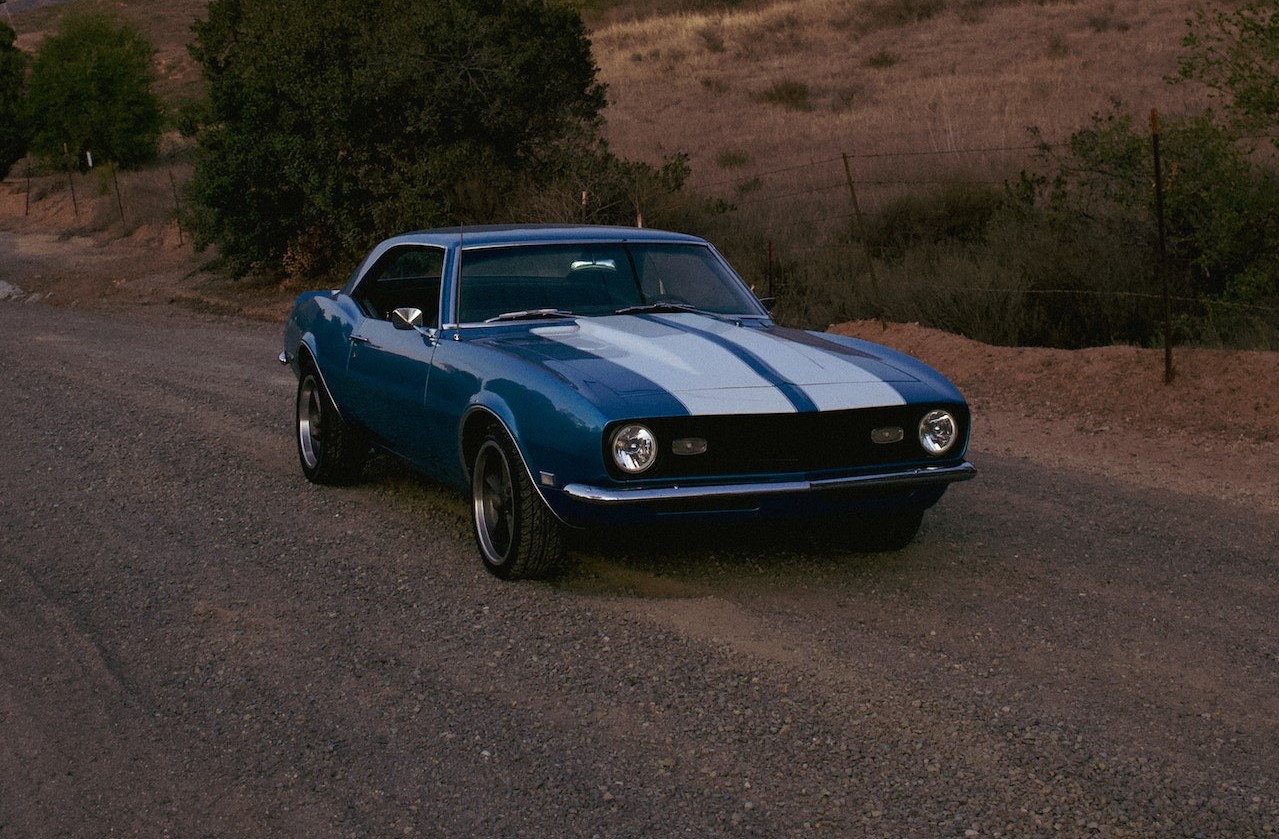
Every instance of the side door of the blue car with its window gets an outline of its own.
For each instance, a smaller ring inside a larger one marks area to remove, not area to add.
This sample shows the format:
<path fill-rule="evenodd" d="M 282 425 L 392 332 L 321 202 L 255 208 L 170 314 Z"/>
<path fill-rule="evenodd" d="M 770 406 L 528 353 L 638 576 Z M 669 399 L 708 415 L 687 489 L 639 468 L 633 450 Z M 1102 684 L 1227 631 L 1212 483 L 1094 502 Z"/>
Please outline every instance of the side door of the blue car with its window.
<path fill-rule="evenodd" d="M 432 446 L 423 437 L 426 388 L 439 331 L 444 251 L 402 246 L 382 255 L 352 297 L 365 313 L 350 335 L 347 379 L 350 411 L 395 454 L 432 469 Z M 403 329 L 391 312 L 416 308 L 418 327 Z"/>

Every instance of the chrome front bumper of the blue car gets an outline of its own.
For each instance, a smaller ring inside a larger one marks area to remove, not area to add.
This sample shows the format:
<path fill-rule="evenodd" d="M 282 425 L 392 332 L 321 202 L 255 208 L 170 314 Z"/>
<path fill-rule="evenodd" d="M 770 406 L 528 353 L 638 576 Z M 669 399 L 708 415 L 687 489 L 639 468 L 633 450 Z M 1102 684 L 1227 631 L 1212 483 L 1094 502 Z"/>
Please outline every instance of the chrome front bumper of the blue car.
<path fill-rule="evenodd" d="M 843 478 L 822 478 L 816 481 L 775 481 L 773 483 L 724 483 L 714 486 L 665 486 L 657 489 L 613 489 L 569 483 L 564 494 L 587 504 L 642 504 L 651 501 L 673 501 L 687 499 L 733 498 L 741 495 L 797 495 L 803 492 L 826 492 L 830 490 L 849 490 L 858 487 L 900 489 L 912 486 L 936 486 L 954 483 L 977 477 L 977 468 L 968 463 L 959 466 L 930 466 L 908 472 L 886 472 L 876 474 L 854 474 Z"/>

